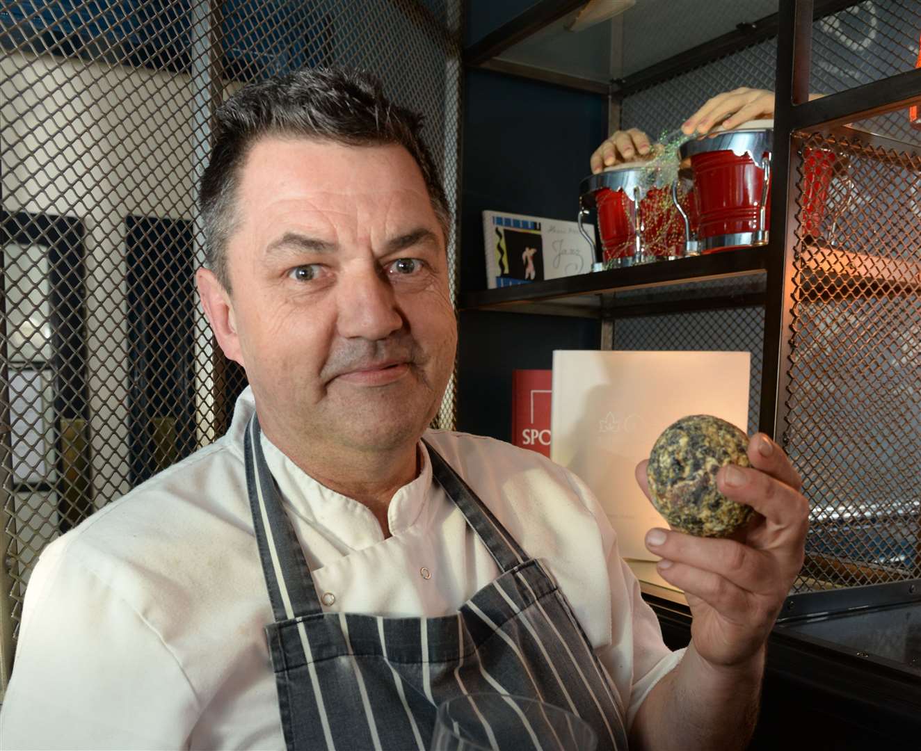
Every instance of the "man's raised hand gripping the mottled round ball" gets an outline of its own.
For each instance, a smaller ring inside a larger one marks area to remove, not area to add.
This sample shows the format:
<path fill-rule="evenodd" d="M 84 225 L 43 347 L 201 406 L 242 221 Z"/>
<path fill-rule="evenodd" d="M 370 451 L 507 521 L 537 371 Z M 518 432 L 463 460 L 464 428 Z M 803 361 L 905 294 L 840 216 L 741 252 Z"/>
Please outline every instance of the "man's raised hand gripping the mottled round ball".
<path fill-rule="evenodd" d="M 662 557 L 659 574 L 681 587 L 691 607 L 695 651 L 714 667 L 733 668 L 764 646 L 803 562 L 809 503 L 787 456 L 763 433 L 748 447 L 751 468 L 721 468 L 717 487 L 756 514 L 733 539 L 652 529 L 647 548 Z M 649 494 L 647 462 L 636 479 Z"/>

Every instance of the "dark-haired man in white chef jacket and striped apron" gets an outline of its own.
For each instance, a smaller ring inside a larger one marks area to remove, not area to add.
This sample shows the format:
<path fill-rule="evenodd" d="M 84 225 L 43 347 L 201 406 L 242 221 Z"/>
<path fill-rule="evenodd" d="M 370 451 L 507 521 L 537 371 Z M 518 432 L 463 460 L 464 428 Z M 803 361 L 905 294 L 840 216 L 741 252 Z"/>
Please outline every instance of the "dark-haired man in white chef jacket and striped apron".
<path fill-rule="evenodd" d="M 744 745 L 806 528 L 777 446 L 720 476 L 763 514 L 744 544 L 650 532 L 694 610 L 670 653 L 577 478 L 426 430 L 456 323 L 417 117 L 344 71 L 246 87 L 202 205 L 199 292 L 251 387 L 216 444 L 42 555 L 2 745 L 426 749 L 437 705 L 482 690 L 600 748 Z"/>

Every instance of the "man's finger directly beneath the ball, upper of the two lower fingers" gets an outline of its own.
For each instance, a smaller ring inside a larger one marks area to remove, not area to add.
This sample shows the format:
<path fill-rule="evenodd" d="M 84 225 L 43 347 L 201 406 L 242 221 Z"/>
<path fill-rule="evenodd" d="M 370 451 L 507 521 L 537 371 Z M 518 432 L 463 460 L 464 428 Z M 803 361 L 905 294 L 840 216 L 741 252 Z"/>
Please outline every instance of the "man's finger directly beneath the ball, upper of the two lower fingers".
<path fill-rule="evenodd" d="M 772 560 L 732 539 L 693 537 L 655 528 L 647 533 L 646 547 L 665 560 L 715 573 L 748 592 L 769 594 L 775 588 Z"/>

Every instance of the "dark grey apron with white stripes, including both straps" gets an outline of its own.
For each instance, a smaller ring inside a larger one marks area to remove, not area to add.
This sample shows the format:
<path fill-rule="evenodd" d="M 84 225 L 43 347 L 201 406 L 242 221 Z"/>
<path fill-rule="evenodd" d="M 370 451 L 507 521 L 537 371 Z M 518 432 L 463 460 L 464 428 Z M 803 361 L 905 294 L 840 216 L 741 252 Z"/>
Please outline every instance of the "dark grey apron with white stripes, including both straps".
<path fill-rule="evenodd" d="M 626 748 L 610 679 L 553 577 L 426 447 L 435 479 L 502 573 L 449 616 L 324 613 L 255 415 L 247 427 L 246 479 L 275 618 L 265 632 L 287 748 L 426 751 L 438 705 L 483 691 L 550 702 L 589 722 L 599 749 Z M 498 737 L 495 747 L 507 741 Z"/>

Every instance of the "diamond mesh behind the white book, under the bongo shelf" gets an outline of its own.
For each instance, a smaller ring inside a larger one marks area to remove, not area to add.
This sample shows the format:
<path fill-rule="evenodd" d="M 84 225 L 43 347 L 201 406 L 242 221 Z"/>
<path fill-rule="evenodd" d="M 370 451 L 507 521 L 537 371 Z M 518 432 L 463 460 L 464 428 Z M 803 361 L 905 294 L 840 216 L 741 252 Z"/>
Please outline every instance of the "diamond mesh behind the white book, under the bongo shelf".
<path fill-rule="evenodd" d="M 758 430 L 764 360 L 764 307 L 733 307 L 663 316 L 617 318 L 615 350 L 751 352 L 749 433 Z"/>

